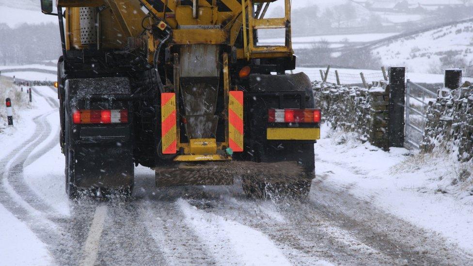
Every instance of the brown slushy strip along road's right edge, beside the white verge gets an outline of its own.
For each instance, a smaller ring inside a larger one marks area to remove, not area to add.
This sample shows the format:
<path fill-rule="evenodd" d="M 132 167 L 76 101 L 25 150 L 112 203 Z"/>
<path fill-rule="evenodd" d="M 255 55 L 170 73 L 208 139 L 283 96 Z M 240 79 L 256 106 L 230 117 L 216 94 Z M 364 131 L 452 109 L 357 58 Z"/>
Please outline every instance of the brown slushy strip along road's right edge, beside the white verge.
<path fill-rule="evenodd" d="M 409 264 L 471 264 L 471 254 L 446 245 L 440 235 L 419 228 L 378 209 L 371 203 L 337 189 L 325 178 L 312 185 L 310 203 L 304 205 L 308 216 L 330 221 L 365 245 L 394 259 Z"/>

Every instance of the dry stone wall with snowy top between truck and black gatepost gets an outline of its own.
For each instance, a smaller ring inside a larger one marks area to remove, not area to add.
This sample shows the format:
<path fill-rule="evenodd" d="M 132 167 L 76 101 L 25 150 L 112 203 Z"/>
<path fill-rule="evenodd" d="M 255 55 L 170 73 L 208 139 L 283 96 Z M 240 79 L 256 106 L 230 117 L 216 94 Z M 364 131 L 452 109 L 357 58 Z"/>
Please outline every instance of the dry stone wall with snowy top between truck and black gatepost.
<path fill-rule="evenodd" d="M 360 140 L 388 150 L 389 87 L 374 83 L 370 89 L 313 83 L 315 103 L 332 128 L 358 132 Z"/>

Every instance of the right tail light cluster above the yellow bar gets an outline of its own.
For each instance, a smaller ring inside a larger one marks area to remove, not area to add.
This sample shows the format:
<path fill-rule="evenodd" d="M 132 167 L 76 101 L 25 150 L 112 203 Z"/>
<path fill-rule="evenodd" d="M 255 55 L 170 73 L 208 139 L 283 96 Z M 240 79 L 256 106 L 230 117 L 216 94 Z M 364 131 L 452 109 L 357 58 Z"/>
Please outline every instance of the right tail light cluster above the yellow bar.
<path fill-rule="evenodd" d="M 269 109 L 269 123 L 320 123 L 319 109 Z"/>

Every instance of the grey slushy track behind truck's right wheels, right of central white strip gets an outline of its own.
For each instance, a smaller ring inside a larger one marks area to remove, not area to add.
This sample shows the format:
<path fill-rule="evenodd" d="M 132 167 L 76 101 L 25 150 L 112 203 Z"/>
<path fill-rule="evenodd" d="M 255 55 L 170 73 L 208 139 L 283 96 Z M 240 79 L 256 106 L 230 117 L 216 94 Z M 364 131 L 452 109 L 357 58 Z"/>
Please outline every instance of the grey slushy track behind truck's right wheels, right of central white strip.
<path fill-rule="evenodd" d="M 224 201 L 221 201 L 223 199 Z M 379 264 L 392 261 L 364 245 L 347 231 L 306 216 L 299 201 L 253 201 L 228 195 L 190 201 L 202 211 L 235 220 L 267 235 L 294 265 Z M 293 209 L 288 212 L 287 209 Z M 307 226 L 304 226 L 307 224 Z M 368 258 L 367 258 L 368 257 Z"/>

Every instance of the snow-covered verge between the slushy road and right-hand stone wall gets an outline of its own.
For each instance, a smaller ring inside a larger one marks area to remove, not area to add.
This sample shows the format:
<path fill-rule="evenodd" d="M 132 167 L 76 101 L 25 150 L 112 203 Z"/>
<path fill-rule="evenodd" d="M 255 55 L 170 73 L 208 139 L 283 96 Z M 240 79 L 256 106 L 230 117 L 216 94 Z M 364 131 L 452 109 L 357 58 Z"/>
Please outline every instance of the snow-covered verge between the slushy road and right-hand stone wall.
<path fill-rule="evenodd" d="M 330 128 L 322 125 L 315 144 L 317 178 L 473 251 L 473 195 L 452 185 L 471 164 L 441 153 L 384 152 Z"/>

